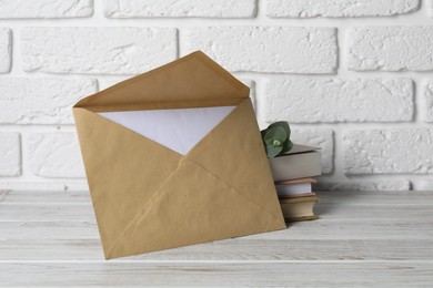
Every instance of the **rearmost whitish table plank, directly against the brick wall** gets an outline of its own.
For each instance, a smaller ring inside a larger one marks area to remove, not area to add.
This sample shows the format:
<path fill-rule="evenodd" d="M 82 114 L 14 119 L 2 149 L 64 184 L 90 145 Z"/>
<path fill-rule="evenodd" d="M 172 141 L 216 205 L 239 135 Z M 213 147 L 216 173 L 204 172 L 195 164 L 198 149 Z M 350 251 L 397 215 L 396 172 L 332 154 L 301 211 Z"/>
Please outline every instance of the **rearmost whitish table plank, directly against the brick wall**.
<path fill-rule="evenodd" d="M 346 204 L 433 204 L 433 192 L 351 192 L 326 191 L 318 192 L 322 203 Z M 89 204 L 88 191 L 0 191 L 1 204 Z"/>

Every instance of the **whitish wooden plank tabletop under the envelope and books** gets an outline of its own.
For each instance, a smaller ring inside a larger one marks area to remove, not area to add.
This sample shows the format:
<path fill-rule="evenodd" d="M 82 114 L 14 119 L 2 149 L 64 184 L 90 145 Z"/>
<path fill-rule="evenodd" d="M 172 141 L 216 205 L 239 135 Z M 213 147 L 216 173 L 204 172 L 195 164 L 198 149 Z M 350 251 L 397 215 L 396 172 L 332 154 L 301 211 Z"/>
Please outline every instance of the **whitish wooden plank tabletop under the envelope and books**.
<path fill-rule="evenodd" d="M 322 192 L 286 230 L 104 260 L 88 192 L 0 192 L 1 287 L 433 287 L 433 192 Z"/>

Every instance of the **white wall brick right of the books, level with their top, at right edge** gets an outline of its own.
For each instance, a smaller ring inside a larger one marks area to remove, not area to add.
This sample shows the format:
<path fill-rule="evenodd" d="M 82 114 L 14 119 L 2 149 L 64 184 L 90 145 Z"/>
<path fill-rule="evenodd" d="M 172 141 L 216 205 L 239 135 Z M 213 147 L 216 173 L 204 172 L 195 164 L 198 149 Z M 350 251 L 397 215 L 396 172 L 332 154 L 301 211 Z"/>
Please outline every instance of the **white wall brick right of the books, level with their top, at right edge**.
<path fill-rule="evenodd" d="M 433 173 L 433 130 L 354 130 L 344 133 L 348 174 Z"/>

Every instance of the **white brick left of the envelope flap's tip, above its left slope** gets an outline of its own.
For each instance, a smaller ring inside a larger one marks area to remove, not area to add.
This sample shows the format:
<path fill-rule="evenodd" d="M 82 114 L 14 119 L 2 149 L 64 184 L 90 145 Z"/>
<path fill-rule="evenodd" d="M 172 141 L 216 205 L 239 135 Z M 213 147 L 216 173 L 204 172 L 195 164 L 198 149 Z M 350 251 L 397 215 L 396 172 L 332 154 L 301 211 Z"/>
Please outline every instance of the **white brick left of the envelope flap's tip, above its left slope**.
<path fill-rule="evenodd" d="M 27 72 L 142 73 L 175 59 L 177 30 L 29 27 L 21 30 L 21 53 Z"/>

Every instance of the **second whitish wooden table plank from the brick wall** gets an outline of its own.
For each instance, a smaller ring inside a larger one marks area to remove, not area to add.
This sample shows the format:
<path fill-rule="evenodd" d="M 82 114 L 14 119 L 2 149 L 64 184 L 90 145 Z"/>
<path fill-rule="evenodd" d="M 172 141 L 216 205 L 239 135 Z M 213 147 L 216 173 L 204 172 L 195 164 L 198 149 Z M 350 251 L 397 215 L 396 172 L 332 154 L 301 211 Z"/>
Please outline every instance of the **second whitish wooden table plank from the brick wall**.
<path fill-rule="evenodd" d="M 353 205 L 346 203 L 316 205 L 323 219 L 339 220 L 420 220 L 432 216 L 433 205 Z M 0 204 L 0 222 L 17 220 L 91 220 L 92 205 L 72 204 Z"/>

